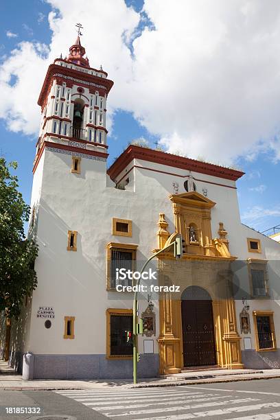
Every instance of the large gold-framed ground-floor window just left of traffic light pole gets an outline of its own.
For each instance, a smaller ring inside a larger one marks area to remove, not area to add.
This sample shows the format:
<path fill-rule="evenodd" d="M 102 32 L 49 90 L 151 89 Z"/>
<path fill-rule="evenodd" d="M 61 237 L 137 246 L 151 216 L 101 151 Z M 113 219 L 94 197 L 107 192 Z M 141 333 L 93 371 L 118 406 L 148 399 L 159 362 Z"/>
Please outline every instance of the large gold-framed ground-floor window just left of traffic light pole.
<path fill-rule="evenodd" d="M 132 331 L 132 310 L 106 310 L 106 358 L 131 359 L 133 344 L 127 342 L 126 331 Z"/>

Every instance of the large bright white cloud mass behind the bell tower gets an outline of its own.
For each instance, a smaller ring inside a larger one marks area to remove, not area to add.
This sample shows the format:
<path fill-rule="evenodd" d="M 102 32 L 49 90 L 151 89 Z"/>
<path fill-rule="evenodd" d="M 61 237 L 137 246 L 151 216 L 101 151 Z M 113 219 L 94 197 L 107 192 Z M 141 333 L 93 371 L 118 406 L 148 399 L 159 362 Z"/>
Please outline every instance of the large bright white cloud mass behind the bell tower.
<path fill-rule="evenodd" d="M 38 46 L 22 44 L 3 63 L 7 80 L 10 60 L 13 71 L 21 65 L 34 75 L 30 83 L 28 71 L 18 71 L 9 106 L 20 121 L 11 124 L 8 117 L 10 129 L 38 130 L 34 97 L 47 64 L 67 53 L 80 21 L 91 65 L 102 64 L 115 81 L 108 115 L 119 108 L 132 112 L 170 152 L 221 164 L 266 150 L 280 159 L 279 1 L 268 8 L 261 0 L 145 0 L 143 12 L 155 30 L 145 27 L 137 38 L 141 16 L 122 0 L 103 0 L 102 7 L 97 0 L 48 2 L 59 12 L 49 14 L 48 60 L 38 57 Z M 18 104 L 27 86 L 32 121 Z"/>

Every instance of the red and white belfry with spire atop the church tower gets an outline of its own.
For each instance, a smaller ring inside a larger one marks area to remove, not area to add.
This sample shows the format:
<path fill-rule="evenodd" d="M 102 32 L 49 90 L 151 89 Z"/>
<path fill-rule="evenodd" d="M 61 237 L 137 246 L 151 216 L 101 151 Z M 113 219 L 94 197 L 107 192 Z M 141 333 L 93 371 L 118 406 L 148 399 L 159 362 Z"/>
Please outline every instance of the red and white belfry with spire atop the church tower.
<path fill-rule="evenodd" d="M 49 65 L 38 104 L 41 107 L 40 134 L 36 144 L 35 172 L 40 156 L 50 143 L 56 148 L 89 150 L 107 156 L 106 101 L 113 86 L 106 71 L 90 67 L 78 36 L 68 57 Z"/>

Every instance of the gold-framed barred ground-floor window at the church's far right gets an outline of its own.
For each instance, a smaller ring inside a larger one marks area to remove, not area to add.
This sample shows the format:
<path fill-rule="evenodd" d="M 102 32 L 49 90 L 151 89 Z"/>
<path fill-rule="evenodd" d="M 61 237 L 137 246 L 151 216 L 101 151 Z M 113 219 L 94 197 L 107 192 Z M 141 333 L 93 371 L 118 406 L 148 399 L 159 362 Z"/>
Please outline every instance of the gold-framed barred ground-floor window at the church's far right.
<path fill-rule="evenodd" d="M 275 326 L 272 311 L 253 311 L 257 351 L 276 351 Z"/>

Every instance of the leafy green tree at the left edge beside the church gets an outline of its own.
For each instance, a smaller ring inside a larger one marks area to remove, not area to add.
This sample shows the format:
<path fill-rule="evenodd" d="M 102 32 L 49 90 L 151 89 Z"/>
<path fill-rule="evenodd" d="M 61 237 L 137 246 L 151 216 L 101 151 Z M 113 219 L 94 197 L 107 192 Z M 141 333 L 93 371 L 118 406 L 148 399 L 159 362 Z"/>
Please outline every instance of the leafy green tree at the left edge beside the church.
<path fill-rule="evenodd" d="M 9 167 L 16 170 L 17 163 L 7 165 L 0 158 L 0 311 L 17 319 L 23 299 L 31 296 L 37 285 L 34 262 L 38 246 L 25 237 L 24 222 L 29 220 L 30 207 Z"/>

